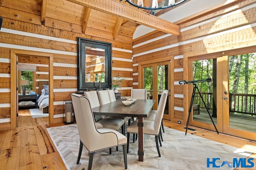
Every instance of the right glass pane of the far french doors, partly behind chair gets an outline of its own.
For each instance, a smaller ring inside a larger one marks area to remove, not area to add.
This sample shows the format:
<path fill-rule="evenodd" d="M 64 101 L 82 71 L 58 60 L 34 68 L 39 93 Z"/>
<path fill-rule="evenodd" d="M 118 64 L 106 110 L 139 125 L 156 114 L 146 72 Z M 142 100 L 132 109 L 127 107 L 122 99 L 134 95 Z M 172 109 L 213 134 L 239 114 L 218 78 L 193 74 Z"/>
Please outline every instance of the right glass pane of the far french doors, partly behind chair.
<path fill-rule="evenodd" d="M 157 78 L 157 87 L 158 87 L 158 103 L 159 103 L 159 100 L 160 100 L 160 97 L 161 97 L 161 94 L 163 92 L 163 90 L 168 90 L 168 65 L 160 65 L 158 66 L 157 68 L 158 70 L 158 78 Z M 167 98 L 167 101 L 166 101 L 166 106 L 165 106 L 165 109 L 164 109 L 164 114 L 169 114 L 168 112 L 168 98 Z"/>

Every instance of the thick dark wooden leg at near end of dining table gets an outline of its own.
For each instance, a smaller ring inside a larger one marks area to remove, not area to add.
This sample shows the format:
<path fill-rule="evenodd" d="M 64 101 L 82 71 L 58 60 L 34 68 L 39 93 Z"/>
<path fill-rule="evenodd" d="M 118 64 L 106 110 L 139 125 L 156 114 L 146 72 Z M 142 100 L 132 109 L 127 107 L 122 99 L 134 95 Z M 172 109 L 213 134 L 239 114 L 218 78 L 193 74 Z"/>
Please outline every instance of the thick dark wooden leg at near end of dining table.
<path fill-rule="evenodd" d="M 138 155 L 139 155 L 139 161 L 144 160 L 144 135 L 143 135 L 143 117 L 138 117 Z"/>

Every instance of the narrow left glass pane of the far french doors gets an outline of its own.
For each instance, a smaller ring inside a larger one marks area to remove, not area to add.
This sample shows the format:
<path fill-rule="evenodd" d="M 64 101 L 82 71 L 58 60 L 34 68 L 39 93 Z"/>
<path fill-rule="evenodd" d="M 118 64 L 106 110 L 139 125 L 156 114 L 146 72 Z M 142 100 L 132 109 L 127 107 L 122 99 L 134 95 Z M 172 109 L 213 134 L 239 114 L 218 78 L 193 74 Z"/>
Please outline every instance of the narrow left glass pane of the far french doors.
<path fill-rule="evenodd" d="M 145 67 L 144 71 L 144 88 L 148 91 L 148 99 L 153 98 L 153 68 Z"/>

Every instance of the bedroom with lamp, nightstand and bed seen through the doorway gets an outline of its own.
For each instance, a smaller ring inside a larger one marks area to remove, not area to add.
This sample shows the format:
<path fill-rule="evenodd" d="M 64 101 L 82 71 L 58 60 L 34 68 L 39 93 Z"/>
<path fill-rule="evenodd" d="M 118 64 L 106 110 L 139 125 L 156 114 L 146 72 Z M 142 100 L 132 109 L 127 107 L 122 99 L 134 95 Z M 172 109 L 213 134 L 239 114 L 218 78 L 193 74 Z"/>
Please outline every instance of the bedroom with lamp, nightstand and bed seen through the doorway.
<path fill-rule="evenodd" d="M 28 81 L 28 84 L 24 84 L 24 81 Z M 48 117 L 49 59 L 18 55 L 18 82 L 19 112 L 21 109 L 29 109 L 33 118 Z"/>

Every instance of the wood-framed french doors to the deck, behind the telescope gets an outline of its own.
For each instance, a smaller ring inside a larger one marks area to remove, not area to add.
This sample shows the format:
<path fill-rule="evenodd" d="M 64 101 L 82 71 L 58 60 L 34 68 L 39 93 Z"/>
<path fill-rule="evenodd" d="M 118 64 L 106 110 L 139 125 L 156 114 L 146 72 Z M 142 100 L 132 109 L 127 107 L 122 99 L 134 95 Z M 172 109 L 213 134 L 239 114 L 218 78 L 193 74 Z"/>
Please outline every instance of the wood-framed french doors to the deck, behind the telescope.
<path fill-rule="evenodd" d="M 190 80 L 202 80 L 195 83 L 200 92 L 193 97 L 189 124 L 212 131 L 215 124 L 220 133 L 256 140 L 255 61 L 252 52 L 189 58 Z M 204 81 L 206 78 L 212 81 Z M 188 86 L 191 102 L 194 85 Z"/>

